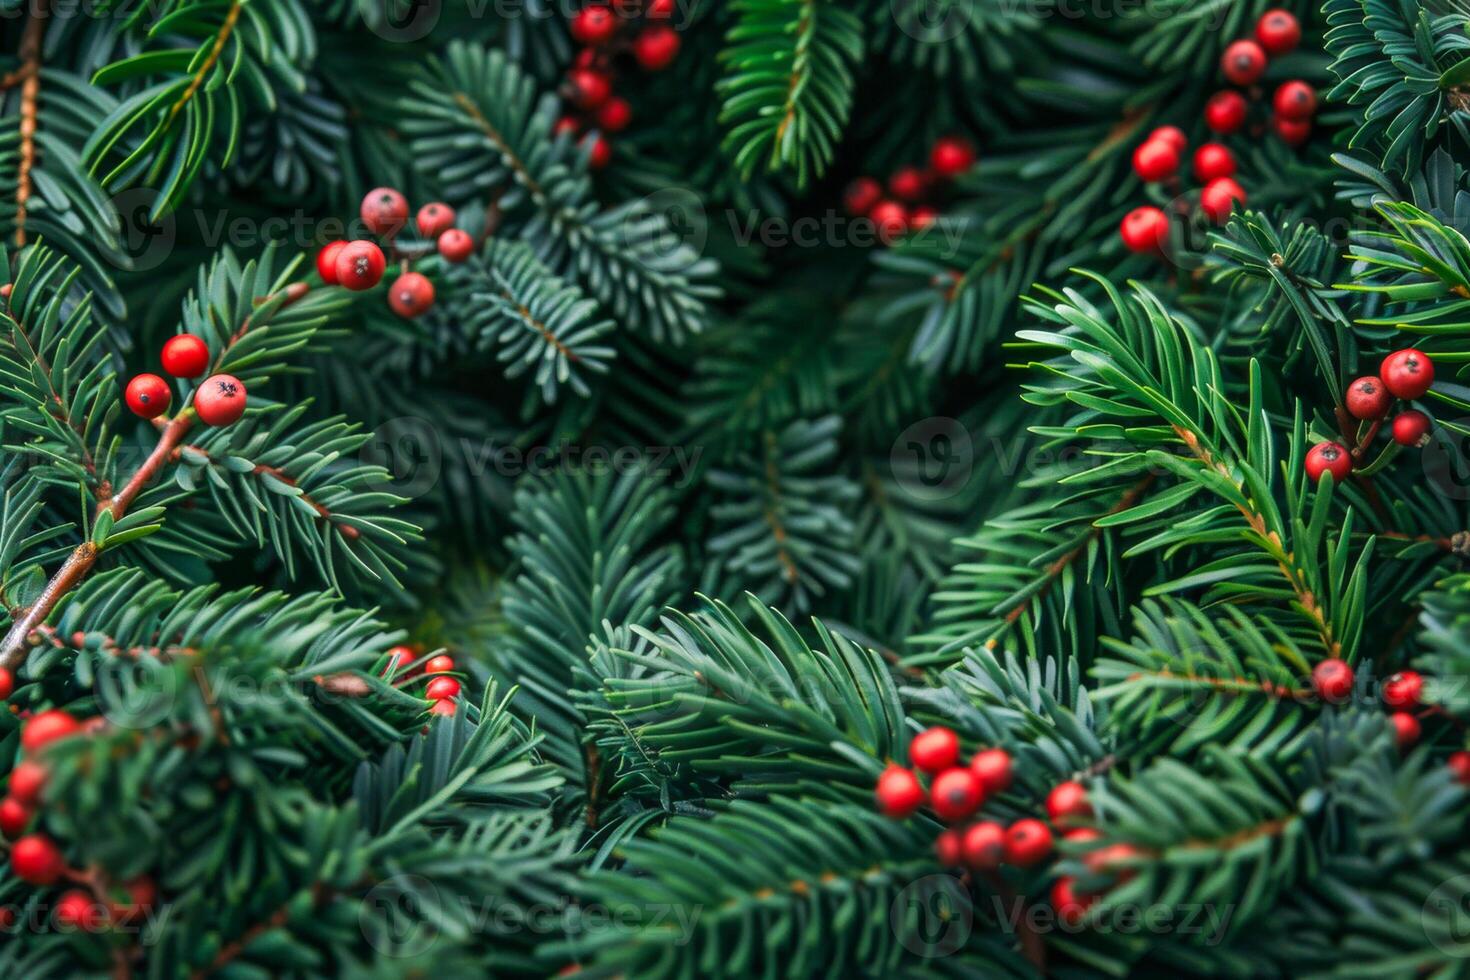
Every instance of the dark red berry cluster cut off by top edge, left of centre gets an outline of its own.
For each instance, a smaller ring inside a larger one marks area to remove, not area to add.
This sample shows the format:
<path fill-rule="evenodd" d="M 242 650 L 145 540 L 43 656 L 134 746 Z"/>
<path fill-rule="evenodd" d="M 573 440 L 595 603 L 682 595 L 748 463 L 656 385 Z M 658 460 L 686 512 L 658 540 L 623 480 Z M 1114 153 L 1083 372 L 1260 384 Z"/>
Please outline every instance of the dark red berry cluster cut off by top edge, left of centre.
<path fill-rule="evenodd" d="M 673 0 L 648 0 L 641 16 L 629 18 L 628 3 L 613 10 L 607 3 L 591 3 L 572 18 L 572 37 L 582 50 L 567 72 L 563 96 L 572 113 L 556 123 L 557 134 L 576 137 L 592 131 L 587 147 L 594 170 L 613 159 L 607 134 L 622 132 L 634 119 L 626 98 L 613 94 L 613 66 L 617 54 L 629 54 L 645 72 L 662 72 L 679 56 L 679 32 L 667 24 Z"/>

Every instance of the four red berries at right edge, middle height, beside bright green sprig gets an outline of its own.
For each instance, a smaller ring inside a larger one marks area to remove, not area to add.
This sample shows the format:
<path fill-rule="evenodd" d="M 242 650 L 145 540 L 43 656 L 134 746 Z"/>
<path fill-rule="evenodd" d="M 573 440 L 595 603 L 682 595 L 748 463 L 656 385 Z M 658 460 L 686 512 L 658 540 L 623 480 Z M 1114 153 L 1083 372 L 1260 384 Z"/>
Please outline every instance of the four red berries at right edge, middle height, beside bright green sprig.
<path fill-rule="evenodd" d="M 1435 383 L 1435 361 L 1429 354 L 1414 348 L 1394 351 L 1383 359 L 1377 375 L 1358 378 L 1348 385 L 1344 408 L 1358 422 L 1370 422 L 1355 450 L 1341 442 L 1319 442 L 1307 453 L 1307 476 L 1316 483 L 1323 475 L 1332 473 L 1335 483 L 1341 483 L 1352 473 L 1354 461 L 1363 455 L 1373 436 L 1377 435 L 1383 419 L 1394 407 L 1395 398 L 1414 401 L 1423 398 L 1430 385 Z M 1391 432 L 1398 445 L 1421 447 L 1429 442 L 1430 419 L 1417 408 L 1410 408 L 1394 416 Z"/>

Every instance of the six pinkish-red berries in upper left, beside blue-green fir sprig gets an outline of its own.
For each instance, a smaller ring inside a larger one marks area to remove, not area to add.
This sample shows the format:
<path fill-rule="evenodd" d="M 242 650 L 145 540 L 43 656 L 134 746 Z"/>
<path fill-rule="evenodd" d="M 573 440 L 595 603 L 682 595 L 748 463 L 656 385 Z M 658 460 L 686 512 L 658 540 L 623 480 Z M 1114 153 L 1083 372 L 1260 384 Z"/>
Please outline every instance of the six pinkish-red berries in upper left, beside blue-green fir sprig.
<path fill-rule="evenodd" d="M 391 187 L 368 191 L 359 213 L 368 231 L 382 238 L 401 264 L 398 278 L 388 287 L 388 307 L 404 319 L 428 313 L 434 306 L 434 284 L 422 272 L 410 272 L 413 259 L 438 250 L 445 262 L 460 263 L 475 251 L 469 232 L 454 228 L 454 209 L 441 201 L 425 204 L 413 219 L 422 242 L 400 242 L 398 232 L 409 223 L 409 200 Z M 322 282 L 354 292 L 372 289 L 387 269 L 382 248 L 363 238 L 328 242 L 316 253 L 316 273 Z"/>

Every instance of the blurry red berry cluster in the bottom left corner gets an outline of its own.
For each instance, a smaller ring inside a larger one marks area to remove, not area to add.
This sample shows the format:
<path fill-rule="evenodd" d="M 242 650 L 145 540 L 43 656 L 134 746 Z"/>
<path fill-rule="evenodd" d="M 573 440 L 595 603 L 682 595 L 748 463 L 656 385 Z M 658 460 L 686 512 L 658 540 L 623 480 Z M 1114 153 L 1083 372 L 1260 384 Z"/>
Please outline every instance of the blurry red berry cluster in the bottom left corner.
<path fill-rule="evenodd" d="M 50 773 L 35 761 L 35 754 L 57 739 L 87 732 L 84 724 L 66 711 L 41 711 L 32 716 L 21 729 L 21 749 L 26 758 L 10 770 L 9 792 L 0 801 L 0 832 L 10 840 L 10 873 L 22 882 L 38 886 L 56 884 L 62 879 L 82 880 L 97 889 L 93 895 L 84 889 L 69 889 L 56 901 L 56 924 L 63 930 L 84 929 L 96 932 L 109 923 L 137 921 L 157 899 L 157 886 L 148 876 L 121 883 L 107 889 L 97 883 L 96 876 L 82 874 L 66 867 L 62 849 L 44 833 L 26 833 L 35 818 L 41 790 Z M 113 895 L 112 892 L 118 893 Z M 9 924 L 9 923 L 6 923 Z"/>

